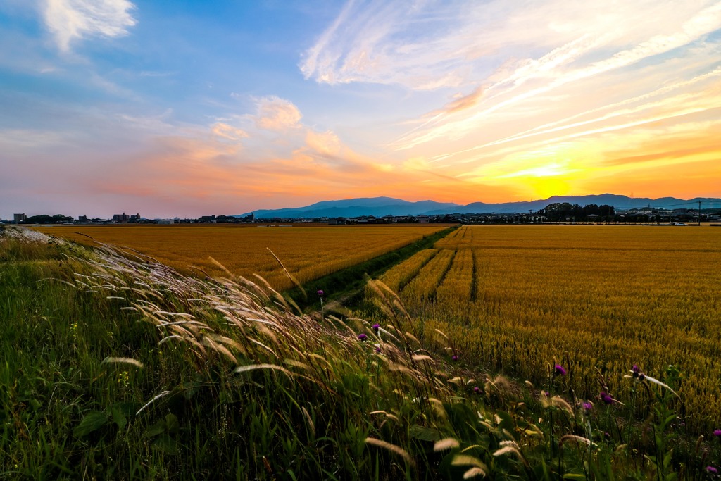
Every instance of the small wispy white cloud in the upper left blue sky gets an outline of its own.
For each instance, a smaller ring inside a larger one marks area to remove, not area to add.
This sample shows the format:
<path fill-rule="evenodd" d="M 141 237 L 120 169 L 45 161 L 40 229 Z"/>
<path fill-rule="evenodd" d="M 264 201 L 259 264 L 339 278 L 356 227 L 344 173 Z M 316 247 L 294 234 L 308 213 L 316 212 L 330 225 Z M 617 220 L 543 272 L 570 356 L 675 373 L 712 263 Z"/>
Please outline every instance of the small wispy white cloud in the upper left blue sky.
<path fill-rule="evenodd" d="M 45 25 L 58 48 L 70 50 L 71 43 L 87 37 L 122 37 L 136 25 L 128 0 L 45 0 Z"/>

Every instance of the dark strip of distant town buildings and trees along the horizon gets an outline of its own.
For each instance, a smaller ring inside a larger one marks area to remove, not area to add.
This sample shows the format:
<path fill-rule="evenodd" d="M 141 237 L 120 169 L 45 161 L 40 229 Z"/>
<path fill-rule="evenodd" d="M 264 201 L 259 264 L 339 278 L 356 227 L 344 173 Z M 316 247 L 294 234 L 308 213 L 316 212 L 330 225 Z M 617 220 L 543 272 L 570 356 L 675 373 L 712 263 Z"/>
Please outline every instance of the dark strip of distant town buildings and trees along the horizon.
<path fill-rule="evenodd" d="M 76 219 L 62 214 L 26 216 L 16 213 L 13 219 L 3 220 L 3 224 L 296 224 L 316 223 L 328 225 L 345 224 L 658 224 L 691 225 L 721 221 L 721 211 L 715 209 L 691 208 L 632 208 L 624 211 L 613 206 L 572 205 L 570 203 L 552 203 L 538 211 L 526 213 L 446 213 L 433 216 L 357 216 L 357 217 L 312 217 L 312 218 L 256 218 L 247 216 L 200 216 L 196 219 L 146 219 L 139 213 L 128 215 L 119 213 L 111 219 L 99 219 L 82 215 Z M 714 225 L 714 224 L 712 224 Z M 721 224 L 719 224 L 721 225 Z"/>

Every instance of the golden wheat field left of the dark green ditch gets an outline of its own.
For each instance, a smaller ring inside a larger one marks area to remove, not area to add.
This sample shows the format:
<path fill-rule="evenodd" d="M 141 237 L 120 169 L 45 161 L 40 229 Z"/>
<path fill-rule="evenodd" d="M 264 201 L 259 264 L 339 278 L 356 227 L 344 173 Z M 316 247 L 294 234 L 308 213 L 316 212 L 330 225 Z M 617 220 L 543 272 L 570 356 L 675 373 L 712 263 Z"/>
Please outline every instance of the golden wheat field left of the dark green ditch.
<path fill-rule="evenodd" d="M 234 275 L 261 275 L 274 288 L 292 287 L 273 254 L 300 283 L 311 281 L 410 244 L 445 224 L 413 226 L 48 226 L 37 230 L 93 244 L 129 247 L 182 273 L 199 268 L 224 275 L 210 258 Z M 84 234 L 84 235 L 82 235 Z M 270 249 L 270 251 L 269 251 Z M 198 270 L 195 270 L 198 273 Z"/>

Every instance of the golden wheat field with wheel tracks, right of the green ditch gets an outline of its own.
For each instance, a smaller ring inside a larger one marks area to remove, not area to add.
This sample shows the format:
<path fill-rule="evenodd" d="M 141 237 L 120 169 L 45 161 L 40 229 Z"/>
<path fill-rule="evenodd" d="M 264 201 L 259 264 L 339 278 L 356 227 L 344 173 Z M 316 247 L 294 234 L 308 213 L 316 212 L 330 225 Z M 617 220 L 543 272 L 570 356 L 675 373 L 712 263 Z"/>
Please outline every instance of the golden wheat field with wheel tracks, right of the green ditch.
<path fill-rule="evenodd" d="M 721 424 L 721 229 L 464 226 L 381 281 L 467 363 L 536 383 L 562 363 L 588 399 L 673 364 L 689 424 Z"/>

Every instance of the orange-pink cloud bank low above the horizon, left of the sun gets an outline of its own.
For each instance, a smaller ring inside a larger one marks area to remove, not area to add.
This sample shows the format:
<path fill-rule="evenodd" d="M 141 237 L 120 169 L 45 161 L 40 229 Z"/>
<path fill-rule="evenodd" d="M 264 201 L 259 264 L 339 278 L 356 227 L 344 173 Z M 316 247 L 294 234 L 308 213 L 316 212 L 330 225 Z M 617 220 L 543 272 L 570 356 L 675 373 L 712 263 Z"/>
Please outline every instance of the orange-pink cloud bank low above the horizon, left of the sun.
<path fill-rule="evenodd" d="M 212 137 L 158 138 L 154 149 L 88 183 L 97 193 L 132 195 L 141 211 L 172 205 L 174 215 L 242 213 L 379 195 L 458 203 L 480 195 L 484 200 L 517 197 L 508 186 L 459 180 L 422 161 L 379 164 L 345 146 L 331 131 L 310 130 L 304 144 L 288 156 L 265 159 L 249 159 L 236 144 Z"/>

